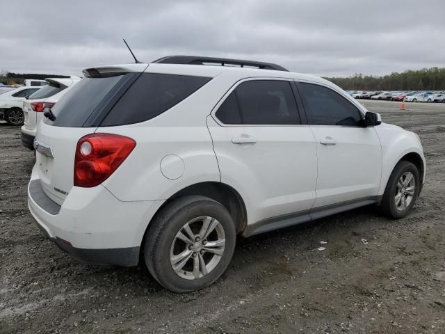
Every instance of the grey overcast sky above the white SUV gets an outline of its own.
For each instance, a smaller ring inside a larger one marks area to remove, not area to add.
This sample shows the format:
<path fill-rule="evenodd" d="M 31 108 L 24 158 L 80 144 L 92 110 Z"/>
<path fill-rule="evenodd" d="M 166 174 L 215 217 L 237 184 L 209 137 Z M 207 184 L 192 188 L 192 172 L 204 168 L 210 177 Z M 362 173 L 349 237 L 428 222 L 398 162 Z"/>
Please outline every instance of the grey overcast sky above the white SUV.
<path fill-rule="evenodd" d="M 0 69 L 80 74 L 172 54 L 348 77 L 445 67 L 445 0 L 0 1 Z"/>

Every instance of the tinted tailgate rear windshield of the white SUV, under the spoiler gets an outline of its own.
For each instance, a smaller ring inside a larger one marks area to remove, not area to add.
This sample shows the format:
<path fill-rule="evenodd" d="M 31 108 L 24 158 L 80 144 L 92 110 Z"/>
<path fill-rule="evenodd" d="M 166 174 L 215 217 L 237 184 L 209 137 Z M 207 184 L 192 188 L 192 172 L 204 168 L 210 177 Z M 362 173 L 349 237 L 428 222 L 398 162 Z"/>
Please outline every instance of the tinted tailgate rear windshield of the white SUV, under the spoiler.
<path fill-rule="evenodd" d="M 122 77 L 124 77 L 123 74 L 81 79 L 51 109 L 56 120 L 51 122 L 48 118 L 44 118 L 44 122 L 57 127 L 83 126 L 105 95 Z M 46 88 L 40 88 L 40 90 Z"/>

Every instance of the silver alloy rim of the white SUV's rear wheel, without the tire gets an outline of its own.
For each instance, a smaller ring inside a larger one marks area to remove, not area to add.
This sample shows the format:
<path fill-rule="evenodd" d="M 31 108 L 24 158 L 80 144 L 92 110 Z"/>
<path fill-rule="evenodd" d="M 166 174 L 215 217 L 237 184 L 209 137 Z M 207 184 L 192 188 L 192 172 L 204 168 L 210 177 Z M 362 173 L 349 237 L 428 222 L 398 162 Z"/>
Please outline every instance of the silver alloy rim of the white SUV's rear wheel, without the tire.
<path fill-rule="evenodd" d="M 225 250 L 223 225 L 213 217 L 193 218 L 172 241 L 170 263 L 181 278 L 195 280 L 216 268 Z"/>

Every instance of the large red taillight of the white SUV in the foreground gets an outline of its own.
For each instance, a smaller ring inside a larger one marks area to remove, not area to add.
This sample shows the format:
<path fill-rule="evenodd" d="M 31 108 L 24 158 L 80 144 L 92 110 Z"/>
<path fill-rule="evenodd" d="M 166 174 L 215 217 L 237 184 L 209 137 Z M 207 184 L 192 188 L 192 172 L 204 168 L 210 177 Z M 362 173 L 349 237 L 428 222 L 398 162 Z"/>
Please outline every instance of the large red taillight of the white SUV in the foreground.
<path fill-rule="evenodd" d="M 136 141 L 118 134 L 80 138 L 74 159 L 74 186 L 90 188 L 104 182 L 127 159 Z"/>

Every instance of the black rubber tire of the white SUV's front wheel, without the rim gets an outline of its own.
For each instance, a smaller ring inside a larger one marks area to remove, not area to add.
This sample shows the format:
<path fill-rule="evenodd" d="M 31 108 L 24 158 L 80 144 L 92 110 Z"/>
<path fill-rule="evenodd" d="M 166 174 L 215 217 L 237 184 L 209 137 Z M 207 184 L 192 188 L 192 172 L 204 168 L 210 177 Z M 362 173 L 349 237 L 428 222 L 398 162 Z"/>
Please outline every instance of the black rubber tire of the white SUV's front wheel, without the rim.
<path fill-rule="evenodd" d="M 412 197 L 410 205 L 408 205 L 408 207 L 405 210 L 400 211 L 396 207 L 396 202 L 394 201 L 394 193 L 396 191 L 398 180 L 406 172 L 411 172 L 412 175 L 414 175 L 414 182 L 415 182 L 414 196 Z M 394 216 L 394 218 L 405 217 L 408 213 L 410 213 L 412 207 L 414 206 L 414 203 L 416 202 L 417 196 L 419 195 L 419 190 L 420 190 L 419 170 L 417 170 L 414 164 L 408 161 L 402 161 L 401 164 L 399 164 L 398 166 L 396 166 L 396 168 L 394 168 L 388 186 L 389 186 L 389 188 L 387 189 L 388 196 L 387 198 L 385 198 L 385 200 L 389 200 L 389 210 L 391 212 L 391 215 Z"/>

